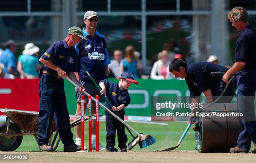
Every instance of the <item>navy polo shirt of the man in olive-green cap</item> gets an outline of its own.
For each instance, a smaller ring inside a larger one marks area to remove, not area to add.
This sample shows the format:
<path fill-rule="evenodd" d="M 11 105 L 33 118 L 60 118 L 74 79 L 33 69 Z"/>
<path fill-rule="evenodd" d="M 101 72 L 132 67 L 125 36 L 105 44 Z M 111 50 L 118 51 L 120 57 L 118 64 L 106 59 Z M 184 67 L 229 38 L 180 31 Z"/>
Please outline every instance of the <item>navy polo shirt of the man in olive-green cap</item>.
<path fill-rule="evenodd" d="M 66 74 L 69 72 L 77 72 L 76 50 L 73 46 L 69 48 L 65 40 L 53 43 L 41 56 L 41 58 L 51 60 L 54 65 L 64 70 Z M 58 75 L 55 70 L 52 70 L 46 65 L 44 65 L 44 70 Z"/>

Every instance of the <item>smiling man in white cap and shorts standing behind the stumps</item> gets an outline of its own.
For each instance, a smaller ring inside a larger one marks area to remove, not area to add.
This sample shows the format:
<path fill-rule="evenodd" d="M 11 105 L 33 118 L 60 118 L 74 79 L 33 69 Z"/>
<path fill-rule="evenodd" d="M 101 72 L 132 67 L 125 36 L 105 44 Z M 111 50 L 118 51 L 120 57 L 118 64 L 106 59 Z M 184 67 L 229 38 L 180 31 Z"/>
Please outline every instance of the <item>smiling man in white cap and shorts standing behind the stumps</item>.
<path fill-rule="evenodd" d="M 104 35 L 100 34 L 97 30 L 98 16 L 95 11 L 87 11 L 84 14 L 85 28 L 82 30 L 85 39 L 81 40 L 81 43 L 76 45 L 77 60 L 78 60 L 78 73 L 77 79 L 84 86 L 85 90 L 95 97 L 99 95 L 100 103 L 104 102 L 104 96 L 100 94 L 96 85 L 92 82 L 89 75 L 82 68 L 81 64 L 85 66 L 92 78 L 99 83 L 100 80 L 108 78 L 108 65 L 110 64 L 110 58 L 108 54 L 107 40 Z M 81 113 L 81 93 L 76 92 L 77 95 L 77 111 L 76 115 Z M 84 108 L 87 106 L 88 97 L 85 96 Z M 92 102 L 92 114 L 95 114 L 96 105 Z M 96 122 L 92 120 L 92 149 L 96 149 Z M 81 144 L 81 128 L 77 125 L 75 128 L 76 144 Z M 106 150 L 101 144 L 100 150 Z M 86 149 L 86 148 L 84 148 Z"/>

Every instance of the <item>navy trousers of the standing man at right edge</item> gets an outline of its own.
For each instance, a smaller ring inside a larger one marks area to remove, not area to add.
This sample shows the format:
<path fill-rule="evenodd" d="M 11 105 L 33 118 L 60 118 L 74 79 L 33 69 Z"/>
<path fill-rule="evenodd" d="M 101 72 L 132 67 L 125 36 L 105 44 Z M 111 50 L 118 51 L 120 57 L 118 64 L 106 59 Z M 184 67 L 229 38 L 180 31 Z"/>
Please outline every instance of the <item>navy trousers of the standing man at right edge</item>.
<path fill-rule="evenodd" d="M 254 111 L 254 99 L 256 91 L 256 72 L 238 72 L 238 112 L 243 114 L 240 124 L 243 131 L 237 140 L 238 148 L 250 149 L 251 141 L 256 145 L 256 118 Z"/>

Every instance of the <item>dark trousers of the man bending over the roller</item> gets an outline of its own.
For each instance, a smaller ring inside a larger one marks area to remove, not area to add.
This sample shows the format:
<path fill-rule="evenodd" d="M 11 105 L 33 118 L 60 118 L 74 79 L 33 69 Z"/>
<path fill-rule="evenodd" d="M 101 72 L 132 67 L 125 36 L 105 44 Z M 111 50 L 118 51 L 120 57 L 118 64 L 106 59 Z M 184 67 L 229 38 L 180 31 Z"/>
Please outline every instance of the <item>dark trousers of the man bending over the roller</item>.
<path fill-rule="evenodd" d="M 220 82 L 220 85 L 218 88 L 216 88 L 215 90 L 211 90 L 213 100 L 216 100 L 221 95 L 225 87 L 226 87 L 226 83 L 222 81 Z M 230 82 L 228 84 L 228 88 L 225 90 L 222 97 L 216 103 L 230 103 L 235 95 L 235 92 L 236 92 L 236 80 L 234 80 L 234 83 Z"/>

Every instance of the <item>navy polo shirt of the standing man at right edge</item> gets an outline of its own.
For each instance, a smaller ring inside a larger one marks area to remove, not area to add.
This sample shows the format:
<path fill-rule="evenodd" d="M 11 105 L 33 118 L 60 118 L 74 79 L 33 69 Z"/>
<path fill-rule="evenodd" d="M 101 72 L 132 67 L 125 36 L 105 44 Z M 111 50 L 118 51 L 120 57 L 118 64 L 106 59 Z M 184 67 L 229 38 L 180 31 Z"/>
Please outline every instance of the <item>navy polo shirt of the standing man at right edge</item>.
<path fill-rule="evenodd" d="M 256 69 L 256 30 L 251 25 L 241 30 L 237 37 L 235 62 L 237 61 L 246 63 L 242 70 Z"/>

